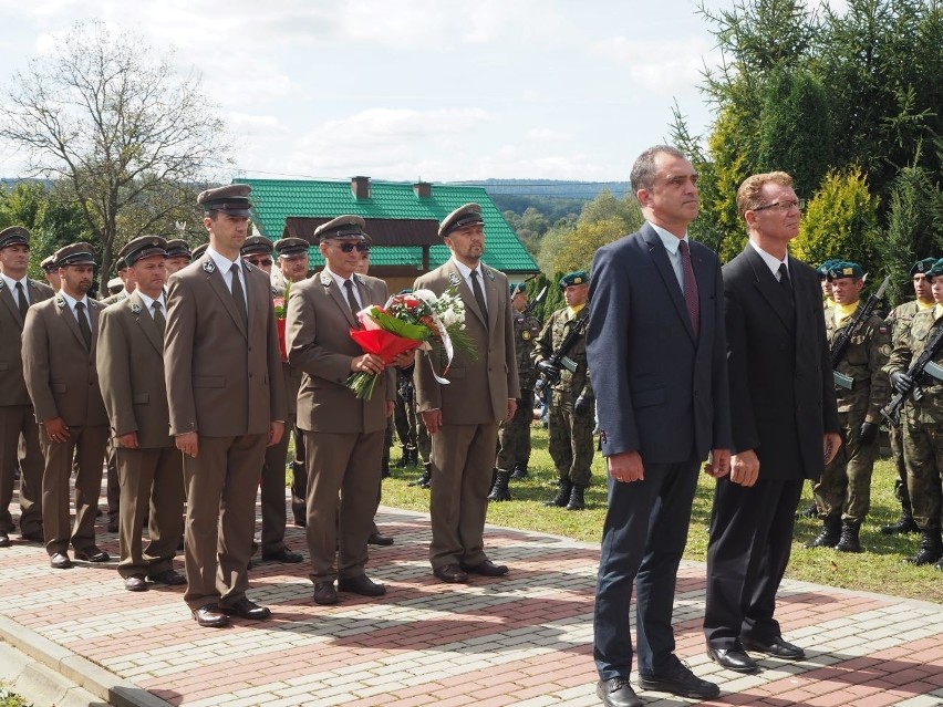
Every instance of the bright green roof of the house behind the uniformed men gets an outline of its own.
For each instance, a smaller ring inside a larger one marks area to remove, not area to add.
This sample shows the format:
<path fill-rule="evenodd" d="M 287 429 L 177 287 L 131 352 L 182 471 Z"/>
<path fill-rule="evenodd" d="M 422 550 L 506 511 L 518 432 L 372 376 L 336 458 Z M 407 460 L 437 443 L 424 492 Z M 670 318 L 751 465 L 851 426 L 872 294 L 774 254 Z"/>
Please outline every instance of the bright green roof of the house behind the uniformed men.
<path fill-rule="evenodd" d="M 504 272 L 538 272 L 537 263 L 521 245 L 501 212 L 491 202 L 484 187 L 450 186 L 435 184 L 432 195 L 417 197 L 413 185 L 398 181 L 370 183 L 370 198 L 356 199 L 351 193 L 350 181 L 320 181 L 302 179 L 234 179 L 234 183 L 252 187 L 256 228 L 271 240 L 282 237 L 284 219 L 294 217 L 335 217 L 354 214 L 365 219 L 435 219 L 445 216 L 463 204 L 475 201 L 481 205 L 481 216 L 487 228 L 487 241 L 483 260 Z M 371 250 L 373 266 L 422 267 L 419 247 L 376 247 Z M 429 266 L 437 268 L 449 258 L 444 245 L 429 249 Z M 323 264 L 317 248 L 309 251 L 312 269 Z"/>

